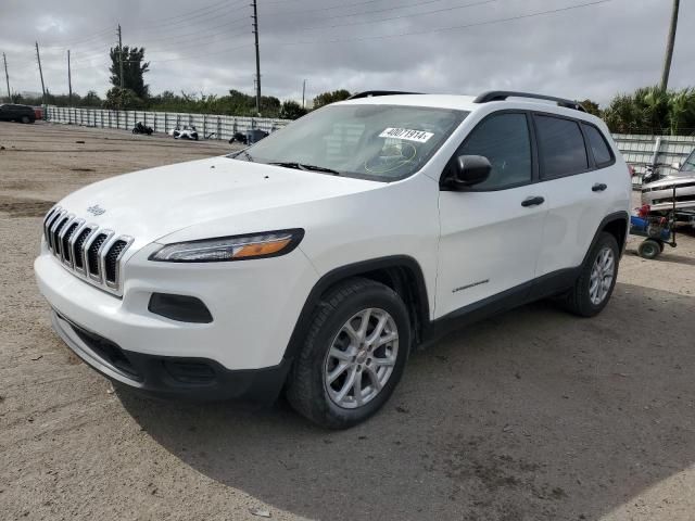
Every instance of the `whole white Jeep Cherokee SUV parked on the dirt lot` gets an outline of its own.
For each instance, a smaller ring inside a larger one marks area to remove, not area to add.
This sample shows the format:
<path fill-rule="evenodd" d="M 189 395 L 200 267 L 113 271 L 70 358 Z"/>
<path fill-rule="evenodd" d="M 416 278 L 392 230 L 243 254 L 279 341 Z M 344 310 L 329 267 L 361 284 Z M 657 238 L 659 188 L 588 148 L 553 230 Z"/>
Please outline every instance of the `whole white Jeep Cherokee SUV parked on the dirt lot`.
<path fill-rule="evenodd" d="M 45 220 L 35 270 L 88 365 L 159 395 L 355 424 L 452 323 L 558 296 L 601 312 L 630 176 L 604 123 L 520 92 L 374 91 L 228 156 L 106 179 Z"/>

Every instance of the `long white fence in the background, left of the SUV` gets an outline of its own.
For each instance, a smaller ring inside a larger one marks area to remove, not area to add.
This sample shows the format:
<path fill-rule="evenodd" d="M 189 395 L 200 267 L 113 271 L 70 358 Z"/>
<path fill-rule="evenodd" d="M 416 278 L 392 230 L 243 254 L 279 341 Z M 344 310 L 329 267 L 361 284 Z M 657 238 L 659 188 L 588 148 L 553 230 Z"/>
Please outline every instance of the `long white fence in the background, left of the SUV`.
<path fill-rule="evenodd" d="M 204 139 L 229 139 L 236 132 L 260 129 L 271 132 L 289 123 L 287 119 L 264 117 L 238 117 L 212 114 L 185 114 L 176 112 L 109 111 L 105 109 L 75 109 L 46 105 L 45 118 L 53 123 L 66 123 L 97 128 L 130 130 L 142 122 L 155 132 L 167 132 L 176 127 L 194 126 Z"/>

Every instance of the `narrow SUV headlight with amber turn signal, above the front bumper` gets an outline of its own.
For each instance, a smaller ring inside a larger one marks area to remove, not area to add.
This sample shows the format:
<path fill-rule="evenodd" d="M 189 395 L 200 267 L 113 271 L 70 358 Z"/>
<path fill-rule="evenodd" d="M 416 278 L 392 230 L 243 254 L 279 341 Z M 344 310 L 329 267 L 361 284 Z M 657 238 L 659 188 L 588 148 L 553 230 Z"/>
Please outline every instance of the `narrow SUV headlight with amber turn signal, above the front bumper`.
<path fill-rule="evenodd" d="M 296 247 L 304 230 L 266 231 L 248 236 L 218 237 L 201 241 L 177 242 L 162 246 L 150 260 L 168 263 L 215 263 L 222 260 L 245 260 L 250 258 L 277 257 Z"/>

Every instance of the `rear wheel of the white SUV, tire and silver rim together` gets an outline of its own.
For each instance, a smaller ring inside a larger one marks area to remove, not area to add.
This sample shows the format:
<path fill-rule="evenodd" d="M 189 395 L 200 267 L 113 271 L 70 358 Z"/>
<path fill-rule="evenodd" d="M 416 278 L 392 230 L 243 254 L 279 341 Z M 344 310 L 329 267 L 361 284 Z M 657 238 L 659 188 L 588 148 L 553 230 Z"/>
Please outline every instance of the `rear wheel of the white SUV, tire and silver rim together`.
<path fill-rule="evenodd" d="M 618 262 L 616 238 L 602 231 L 582 266 L 574 288 L 567 295 L 566 307 L 582 317 L 598 315 L 608 304 L 616 285 Z"/>

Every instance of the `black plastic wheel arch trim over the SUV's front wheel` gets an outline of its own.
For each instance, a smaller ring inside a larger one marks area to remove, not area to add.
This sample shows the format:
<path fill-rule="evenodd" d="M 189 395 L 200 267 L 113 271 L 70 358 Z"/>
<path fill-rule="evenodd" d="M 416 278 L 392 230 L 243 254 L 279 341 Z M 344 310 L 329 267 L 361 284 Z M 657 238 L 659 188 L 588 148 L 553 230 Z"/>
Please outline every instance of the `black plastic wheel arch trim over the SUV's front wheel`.
<path fill-rule="evenodd" d="M 302 340 L 311 327 L 314 310 L 321 305 L 326 292 L 337 283 L 353 277 L 370 279 L 395 291 L 408 309 L 413 327 L 413 345 L 419 343 L 424 330 L 430 322 L 425 276 L 415 258 L 407 255 L 393 255 L 349 264 L 325 274 L 314 284 L 304 302 L 285 351 L 285 359 L 293 359 L 298 354 L 302 346 Z"/>

